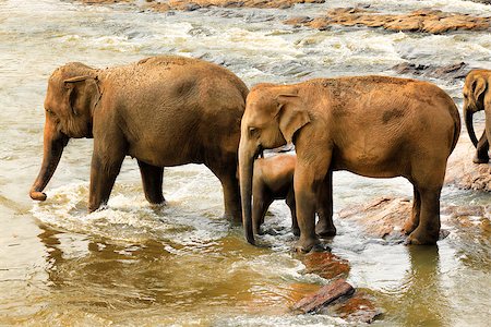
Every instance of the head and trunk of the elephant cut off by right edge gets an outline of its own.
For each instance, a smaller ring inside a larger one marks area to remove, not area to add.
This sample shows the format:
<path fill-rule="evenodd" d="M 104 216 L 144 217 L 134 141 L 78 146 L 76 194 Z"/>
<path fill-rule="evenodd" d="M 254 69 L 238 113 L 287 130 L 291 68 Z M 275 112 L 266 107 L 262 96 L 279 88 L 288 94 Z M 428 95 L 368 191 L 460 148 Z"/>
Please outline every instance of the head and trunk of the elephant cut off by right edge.
<path fill-rule="evenodd" d="M 486 135 L 488 141 L 491 136 L 491 93 L 489 93 L 489 81 L 491 72 L 484 70 L 471 71 L 464 84 L 464 119 L 467 132 L 474 146 L 477 147 L 478 140 L 474 131 L 472 116 L 479 110 L 486 110 Z M 489 112 L 488 112 L 489 111 Z"/>

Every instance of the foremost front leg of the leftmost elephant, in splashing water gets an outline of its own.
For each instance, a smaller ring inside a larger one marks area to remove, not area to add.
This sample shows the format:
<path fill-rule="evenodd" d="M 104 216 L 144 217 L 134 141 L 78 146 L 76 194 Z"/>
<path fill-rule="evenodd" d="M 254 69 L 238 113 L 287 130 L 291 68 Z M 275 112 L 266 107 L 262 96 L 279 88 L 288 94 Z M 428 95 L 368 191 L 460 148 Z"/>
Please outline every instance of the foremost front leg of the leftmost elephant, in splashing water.
<path fill-rule="evenodd" d="M 88 211 L 97 210 L 106 205 L 116 178 L 124 159 L 123 152 L 111 152 L 111 154 L 98 155 L 94 152 L 91 167 L 91 186 L 88 193 Z"/>

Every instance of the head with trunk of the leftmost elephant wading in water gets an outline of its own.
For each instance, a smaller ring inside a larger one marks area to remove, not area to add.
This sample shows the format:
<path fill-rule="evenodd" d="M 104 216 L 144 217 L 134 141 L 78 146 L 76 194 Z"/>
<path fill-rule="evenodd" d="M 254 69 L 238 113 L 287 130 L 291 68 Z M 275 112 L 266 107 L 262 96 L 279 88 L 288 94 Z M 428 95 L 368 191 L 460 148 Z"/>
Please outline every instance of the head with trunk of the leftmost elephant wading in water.
<path fill-rule="evenodd" d="M 48 184 L 64 146 L 71 137 L 92 137 L 93 109 L 100 99 L 96 71 L 82 63 L 57 69 L 48 82 L 45 99 L 44 157 L 39 174 L 31 187 L 33 199 L 45 201 Z"/>

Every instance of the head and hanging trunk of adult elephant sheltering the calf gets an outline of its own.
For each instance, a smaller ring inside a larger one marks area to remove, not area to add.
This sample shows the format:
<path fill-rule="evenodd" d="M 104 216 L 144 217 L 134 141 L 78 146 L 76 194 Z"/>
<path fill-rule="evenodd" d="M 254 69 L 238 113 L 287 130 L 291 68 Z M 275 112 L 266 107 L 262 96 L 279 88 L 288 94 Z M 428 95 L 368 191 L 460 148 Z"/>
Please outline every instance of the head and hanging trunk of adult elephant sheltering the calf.
<path fill-rule="evenodd" d="M 246 239 L 254 244 L 251 199 L 253 165 L 259 154 L 295 141 L 310 117 L 295 86 L 260 84 L 246 101 L 239 144 L 239 177 Z"/>

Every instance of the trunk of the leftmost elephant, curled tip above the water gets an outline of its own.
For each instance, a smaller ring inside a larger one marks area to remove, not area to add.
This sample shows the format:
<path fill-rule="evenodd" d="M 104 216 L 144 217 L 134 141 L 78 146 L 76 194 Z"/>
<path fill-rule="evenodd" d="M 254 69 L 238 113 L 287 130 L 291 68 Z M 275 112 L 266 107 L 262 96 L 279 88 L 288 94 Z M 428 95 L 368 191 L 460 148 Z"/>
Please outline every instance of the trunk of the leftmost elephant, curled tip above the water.
<path fill-rule="evenodd" d="M 43 190 L 45 190 L 55 173 L 68 141 L 69 138 L 64 134 L 56 131 L 51 124 L 45 124 L 43 164 L 39 174 L 31 187 L 31 198 L 37 201 L 46 199 L 46 194 Z"/>

